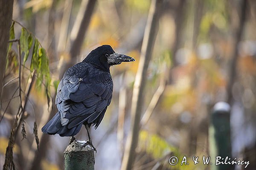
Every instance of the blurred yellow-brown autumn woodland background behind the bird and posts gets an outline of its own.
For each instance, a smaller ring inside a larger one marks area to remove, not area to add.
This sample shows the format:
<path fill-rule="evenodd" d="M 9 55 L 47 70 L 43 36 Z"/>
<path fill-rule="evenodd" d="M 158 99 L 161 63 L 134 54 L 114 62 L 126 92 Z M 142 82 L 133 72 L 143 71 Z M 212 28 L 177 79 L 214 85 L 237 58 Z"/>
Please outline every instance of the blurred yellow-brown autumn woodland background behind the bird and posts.
<path fill-rule="evenodd" d="M 168 160 L 171 155 L 186 155 L 188 160 L 192 160 L 192 156 L 209 156 L 212 107 L 216 102 L 226 101 L 231 105 L 232 156 L 250 161 L 247 169 L 255 170 L 256 1 L 163 0 L 162 3 L 145 75 L 141 129 L 133 169 L 151 170 L 156 164 L 163 170 L 211 169 L 204 164 L 173 167 Z M 96 3 L 91 0 L 14 0 L 13 20 L 34 34 L 46 49 L 51 78 L 47 92 L 51 96 L 49 107 L 44 88 L 37 88 L 41 82 L 32 86 L 25 110 L 26 139 L 22 140 L 20 128 L 15 140 L 17 170 L 64 169 L 63 152 L 70 138 L 43 135 L 41 127 L 56 113 L 55 86 L 64 71 L 103 44 L 136 59 L 136 62 L 111 68 L 113 99 L 98 129 L 91 128 L 93 144 L 98 150 L 95 169 L 120 169 L 150 6 L 150 0 L 98 0 Z M 15 37 L 19 37 L 20 25 L 15 24 L 14 29 Z M 16 46 L 13 45 L 13 50 L 17 53 Z M 31 59 L 31 55 L 28 58 Z M 6 67 L 4 83 L 18 75 L 13 56 L 11 61 Z M 31 73 L 26 71 L 29 65 L 26 63 L 23 68 L 24 84 L 31 81 Z M 7 110 L 0 122 L 1 168 L 19 107 L 17 97 L 8 105 L 18 87 L 16 80 L 3 90 L 2 105 Z M 35 121 L 39 151 L 33 135 Z M 84 128 L 76 139 L 87 140 Z M 244 166 L 236 166 L 236 170 L 242 169 Z"/>

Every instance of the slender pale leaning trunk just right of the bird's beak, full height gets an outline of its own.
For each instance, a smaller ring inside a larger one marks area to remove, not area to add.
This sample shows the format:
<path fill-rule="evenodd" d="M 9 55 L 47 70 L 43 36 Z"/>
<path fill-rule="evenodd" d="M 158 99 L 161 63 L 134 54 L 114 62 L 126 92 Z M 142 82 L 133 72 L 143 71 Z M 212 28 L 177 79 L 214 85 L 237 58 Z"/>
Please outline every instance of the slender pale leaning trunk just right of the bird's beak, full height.
<path fill-rule="evenodd" d="M 148 64 L 151 59 L 151 54 L 157 35 L 158 19 L 162 3 L 163 0 L 152 0 L 148 14 L 148 21 L 141 48 L 139 68 L 134 82 L 131 106 L 131 130 L 129 131 L 125 145 L 125 153 L 122 160 L 121 170 L 131 170 L 134 163 L 134 158 L 136 156 L 135 149 L 139 140 L 140 115 L 143 106 L 143 89 L 145 88 Z"/>

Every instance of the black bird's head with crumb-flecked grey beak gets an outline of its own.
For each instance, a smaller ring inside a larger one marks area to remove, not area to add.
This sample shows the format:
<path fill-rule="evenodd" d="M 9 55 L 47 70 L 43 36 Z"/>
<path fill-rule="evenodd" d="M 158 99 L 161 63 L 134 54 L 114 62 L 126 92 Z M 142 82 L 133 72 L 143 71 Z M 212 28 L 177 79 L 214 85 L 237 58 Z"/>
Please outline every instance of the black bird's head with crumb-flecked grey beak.
<path fill-rule="evenodd" d="M 102 65 L 109 69 L 112 65 L 118 65 L 121 62 L 132 62 L 135 59 L 124 54 L 117 54 L 110 45 L 102 45 L 91 51 L 84 61 Z"/>

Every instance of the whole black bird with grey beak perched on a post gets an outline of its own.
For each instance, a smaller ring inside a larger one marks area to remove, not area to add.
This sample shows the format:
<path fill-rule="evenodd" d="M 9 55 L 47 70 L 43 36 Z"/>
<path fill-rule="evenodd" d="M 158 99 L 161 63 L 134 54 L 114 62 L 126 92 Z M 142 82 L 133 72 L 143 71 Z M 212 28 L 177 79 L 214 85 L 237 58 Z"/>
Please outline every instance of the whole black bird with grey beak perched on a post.
<path fill-rule="evenodd" d="M 75 136 L 82 125 L 89 128 L 99 126 L 111 103 L 113 81 L 110 66 L 121 62 L 135 61 L 134 58 L 117 54 L 110 45 L 102 45 L 91 51 L 82 61 L 70 67 L 61 79 L 55 104 L 58 112 L 42 127 L 42 132 L 60 136 Z"/>

